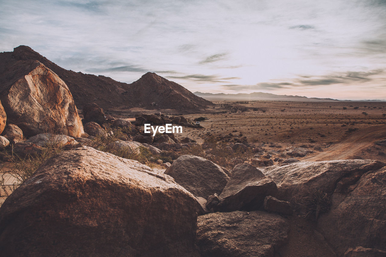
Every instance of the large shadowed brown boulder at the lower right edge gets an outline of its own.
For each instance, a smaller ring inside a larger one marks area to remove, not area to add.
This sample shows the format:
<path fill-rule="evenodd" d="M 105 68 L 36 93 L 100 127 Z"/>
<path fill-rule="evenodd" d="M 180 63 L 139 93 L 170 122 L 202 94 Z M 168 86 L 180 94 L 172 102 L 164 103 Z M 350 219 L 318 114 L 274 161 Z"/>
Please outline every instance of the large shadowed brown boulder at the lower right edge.
<path fill-rule="evenodd" d="M 358 245 L 386 251 L 386 167 L 335 189 L 318 230 L 339 255 Z"/>

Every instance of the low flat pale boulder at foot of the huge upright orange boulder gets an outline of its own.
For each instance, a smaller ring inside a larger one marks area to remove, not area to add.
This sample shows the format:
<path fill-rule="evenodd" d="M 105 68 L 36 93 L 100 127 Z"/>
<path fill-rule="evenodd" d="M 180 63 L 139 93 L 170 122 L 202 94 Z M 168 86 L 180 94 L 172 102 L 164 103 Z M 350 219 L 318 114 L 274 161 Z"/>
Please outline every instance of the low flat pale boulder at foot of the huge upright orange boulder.
<path fill-rule="evenodd" d="M 76 145 L 78 142 L 67 135 L 52 135 L 49 133 L 37 134 L 25 142 L 31 142 L 41 147 L 62 147 L 64 145 Z"/>

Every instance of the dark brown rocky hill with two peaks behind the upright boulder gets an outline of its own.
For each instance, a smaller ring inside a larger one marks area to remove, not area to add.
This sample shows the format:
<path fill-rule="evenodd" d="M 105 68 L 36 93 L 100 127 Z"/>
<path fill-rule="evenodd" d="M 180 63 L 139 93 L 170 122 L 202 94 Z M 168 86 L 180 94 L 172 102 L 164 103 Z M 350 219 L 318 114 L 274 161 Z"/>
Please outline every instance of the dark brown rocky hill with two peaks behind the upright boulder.
<path fill-rule="evenodd" d="M 18 46 L 13 52 L 0 53 L 0 74 L 9 73 L 10 68 L 18 61 L 39 61 L 58 74 L 67 84 L 78 108 L 83 108 L 88 102 L 95 102 L 102 108 L 141 107 L 192 111 L 213 105 L 155 73 L 147 73 L 131 84 L 122 83 L 105 76 L 63 69 L 28 46 Z M 0 77 L 0 81 L 7 81 L 4 76 Z"/>

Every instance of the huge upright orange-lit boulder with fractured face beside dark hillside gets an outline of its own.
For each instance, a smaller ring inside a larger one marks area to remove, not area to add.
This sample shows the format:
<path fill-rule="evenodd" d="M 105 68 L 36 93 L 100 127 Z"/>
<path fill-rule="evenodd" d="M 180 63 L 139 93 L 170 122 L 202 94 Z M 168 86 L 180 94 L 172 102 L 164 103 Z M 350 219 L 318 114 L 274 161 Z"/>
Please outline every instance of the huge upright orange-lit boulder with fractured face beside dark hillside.
<path fill-rule="evenodd" d="M 17 61 L 7 71 L 0 99 L 7 122 L 27 137 L 57 133 L 81 137 L 83 125 L 64 81 L 39 61 Z"/>

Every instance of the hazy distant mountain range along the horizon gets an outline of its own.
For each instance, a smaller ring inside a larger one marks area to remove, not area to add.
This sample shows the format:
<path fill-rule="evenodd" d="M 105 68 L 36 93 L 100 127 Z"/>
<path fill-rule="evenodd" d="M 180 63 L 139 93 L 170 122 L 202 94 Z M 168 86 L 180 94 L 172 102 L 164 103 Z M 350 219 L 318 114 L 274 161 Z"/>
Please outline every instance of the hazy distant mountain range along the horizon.
<path fill-rule="evenodd" d="M 224 94 L 224 93 L 218 93 L 218 94 L 212 94 L 212 93 L 201 93 L 201 92 L 194 92 L 196 96 L 200 96 L 207 100 L 243 100 L 243 101 L 309 101 L 309 102 L 335 102 L 335 101 L 350 101 L 350 100 L 337 100 L 332 98 L 317 98 L 317 97 L 311 97 L 308 98 L 306 96 L 298 96 L 298 95 L 274 95 L 271 93 L 262 93 L 262 92 L 254 92 L 250 94 L 244 94 L 244 93 L 238 93 L 238 94 Z M 386 100 L 356 100 L 356 101 L 386 101 Z"/>

